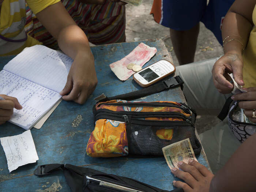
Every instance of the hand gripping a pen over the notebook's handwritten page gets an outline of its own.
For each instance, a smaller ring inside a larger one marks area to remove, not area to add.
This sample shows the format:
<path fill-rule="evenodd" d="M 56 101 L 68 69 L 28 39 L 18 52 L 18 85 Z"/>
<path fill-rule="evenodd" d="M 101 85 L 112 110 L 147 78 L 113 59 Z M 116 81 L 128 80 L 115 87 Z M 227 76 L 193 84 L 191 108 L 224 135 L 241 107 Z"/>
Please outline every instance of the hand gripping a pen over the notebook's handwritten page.
<path fill-rule="evenodd" d="M 0 95 L 0 125 L 10 120 L 14 108 L 22 109 L 18 99 L 7 95 Z"/>

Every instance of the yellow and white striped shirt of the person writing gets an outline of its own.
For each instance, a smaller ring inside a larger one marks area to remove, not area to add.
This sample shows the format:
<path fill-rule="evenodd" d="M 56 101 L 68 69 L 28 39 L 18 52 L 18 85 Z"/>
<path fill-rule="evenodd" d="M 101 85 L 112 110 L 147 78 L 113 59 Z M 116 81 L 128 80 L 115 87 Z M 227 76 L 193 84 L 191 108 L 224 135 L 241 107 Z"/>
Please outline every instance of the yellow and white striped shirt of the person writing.
<path fill-rule="evenodd" d="M 49 5 L 60 0 L 26 0 L 27 4 L 34 12 L 44 10 Z M 26 37 L 24 26 L 26 23 L 25 0 L 4 0 L 1 5 L 0 13 L 0 34 L 6 38 L 19 40 Z M 8 42 L 0 38 L 0 56 L 18 54 L 25 47 L 41 44 L 36 39 L 28 36 L 23 42 Z"/>

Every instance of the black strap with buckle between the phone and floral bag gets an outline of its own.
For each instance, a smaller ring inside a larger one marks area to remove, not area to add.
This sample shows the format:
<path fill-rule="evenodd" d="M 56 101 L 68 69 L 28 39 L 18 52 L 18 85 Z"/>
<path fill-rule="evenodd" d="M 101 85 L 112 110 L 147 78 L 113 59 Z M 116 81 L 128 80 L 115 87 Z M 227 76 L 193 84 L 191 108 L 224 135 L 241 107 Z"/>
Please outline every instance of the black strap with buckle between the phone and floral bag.
<path fill-rule="evenodd" d="M 116 99 L 131 101 L 131 100 L 134 100 L 134 99 L 145 97 L 147 95 L 151 95 L 151 94 L 154 94 L 154 93 L 161 92 L 165 89 L 173 89 L 173 88 L 178 87 L 178 86 L 180 86 L 181 90 L 183 90 L 183 84 L 184 84 L 183 80 L 178 75 L 178 76 L 172 77 L 168 80 L 164 80 L 162 82 L 153 84 L 149 87 L 140 89 L 138 91 L 132 91 L 130 93 L 125 93 L 125 94 L 122 94 L 122 95 L 116 95 L 114 97 L 104 97 L 104 98 L 100 98 L 100 99 L 95 98 L 95 100 L 97 102 L 99 102 L 99 101 L 101 101 L 101 102 L 102 101 L 110 101 L 110 100 L 116 100 Z"/>

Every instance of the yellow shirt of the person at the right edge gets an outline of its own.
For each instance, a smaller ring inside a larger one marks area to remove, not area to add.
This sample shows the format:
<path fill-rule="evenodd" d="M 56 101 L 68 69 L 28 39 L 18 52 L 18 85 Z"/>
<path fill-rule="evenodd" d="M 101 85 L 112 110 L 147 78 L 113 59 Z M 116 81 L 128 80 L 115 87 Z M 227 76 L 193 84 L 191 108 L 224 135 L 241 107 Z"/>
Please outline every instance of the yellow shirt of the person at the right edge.
<path fill-rule="evenodd" d="M 252 20 L 256 23 L 256 6 L 252 13 Z M 245 52 L 243 54 L 243 77 L 245 87 L 256 87 L 256 28 L 253 28 Z"/>

